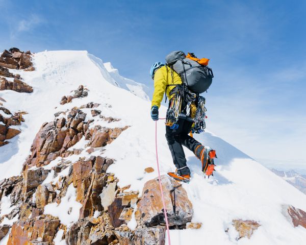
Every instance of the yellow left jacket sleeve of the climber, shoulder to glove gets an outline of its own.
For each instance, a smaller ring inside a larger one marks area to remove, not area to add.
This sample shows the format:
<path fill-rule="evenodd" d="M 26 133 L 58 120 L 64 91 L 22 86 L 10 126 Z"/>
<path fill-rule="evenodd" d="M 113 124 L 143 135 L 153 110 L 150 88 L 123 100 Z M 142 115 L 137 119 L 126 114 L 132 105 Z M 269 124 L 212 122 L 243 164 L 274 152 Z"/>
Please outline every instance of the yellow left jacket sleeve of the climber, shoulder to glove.
<path fill-rule="evenodd" d="M 158 108 L 160 108 L 161 102 L 164 97 L 166 85 L 167 82 L 164 76 L 164 72 L 162 71 L 162 69 L 158 69 L 154 76 L 154 93 L 152 96 L 151 106 L 158 106 Z"/>

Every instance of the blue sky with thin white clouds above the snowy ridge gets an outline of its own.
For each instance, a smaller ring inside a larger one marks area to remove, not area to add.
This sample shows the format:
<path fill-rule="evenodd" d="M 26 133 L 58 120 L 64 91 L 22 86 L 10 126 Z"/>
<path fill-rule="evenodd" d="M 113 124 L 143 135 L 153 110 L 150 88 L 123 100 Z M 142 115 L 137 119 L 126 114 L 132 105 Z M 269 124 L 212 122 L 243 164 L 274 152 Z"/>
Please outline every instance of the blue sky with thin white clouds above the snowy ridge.
<path fill-rule="evenodd" d="M 0 10 L 1 50 L 87 50 L 148 86 L 152 62 L 173 50 L 210 58 L 208 130 L 254 158 L 306 163 L 305 1 L 0 0 Z"/>

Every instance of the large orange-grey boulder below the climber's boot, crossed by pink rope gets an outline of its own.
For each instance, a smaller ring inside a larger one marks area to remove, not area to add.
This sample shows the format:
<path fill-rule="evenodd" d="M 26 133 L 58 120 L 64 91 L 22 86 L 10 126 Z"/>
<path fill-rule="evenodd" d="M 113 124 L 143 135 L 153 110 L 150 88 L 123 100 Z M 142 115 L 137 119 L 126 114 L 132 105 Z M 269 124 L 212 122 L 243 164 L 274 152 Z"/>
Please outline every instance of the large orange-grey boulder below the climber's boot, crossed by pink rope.
<path fill-rule="evenodd" d="M 193 215 L 192 204 L 186 190 L 180 182 L 166 175 L 161 176 L 161 179 L 169 226 L 186 225 Z M 158 178 L 145 183 L 137 207 L 138 225 L 143 223 L 146 227 L 152 227 L 165 224 Z"/>

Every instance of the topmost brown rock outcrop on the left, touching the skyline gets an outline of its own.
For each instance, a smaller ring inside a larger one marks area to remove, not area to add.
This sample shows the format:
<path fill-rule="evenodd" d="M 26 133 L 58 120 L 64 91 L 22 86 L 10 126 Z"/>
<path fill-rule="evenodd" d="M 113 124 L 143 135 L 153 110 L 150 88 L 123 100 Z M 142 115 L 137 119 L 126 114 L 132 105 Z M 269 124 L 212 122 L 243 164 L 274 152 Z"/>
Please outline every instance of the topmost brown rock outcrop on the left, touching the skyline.
<path fill-rule="evenodd" d="M 10 48 L 5 50 L 0 57 L 0 66 L 4 66 L 9 69 L 25 69 L 33 67 L 31 61 L 31 52 L 22 52 L 18 48 Z"/>

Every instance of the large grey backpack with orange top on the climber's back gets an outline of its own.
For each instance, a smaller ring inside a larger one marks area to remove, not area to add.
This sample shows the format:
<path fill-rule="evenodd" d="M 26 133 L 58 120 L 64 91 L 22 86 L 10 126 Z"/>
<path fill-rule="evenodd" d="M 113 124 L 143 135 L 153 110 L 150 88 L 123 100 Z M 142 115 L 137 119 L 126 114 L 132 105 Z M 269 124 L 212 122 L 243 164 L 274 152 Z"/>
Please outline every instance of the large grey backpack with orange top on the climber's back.
<path fill-rule="evenodd" d="M 198 59 L 194 54 L 173 51 L 166 56 L 166 63 L 181 76 L 184 84 L 194 93 L 205 92 L 213 81 L 213 71 L 208 67 L 209 59 Z"/>

